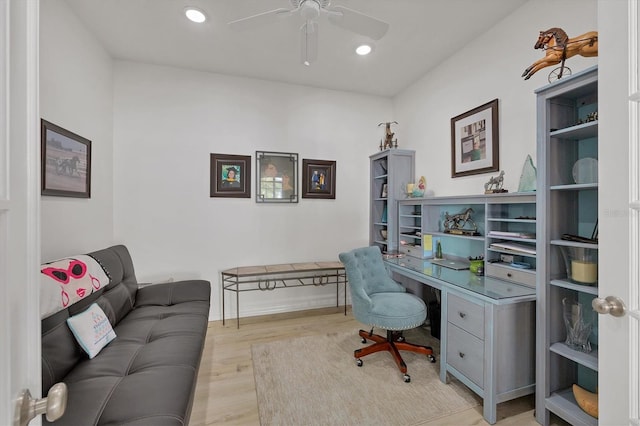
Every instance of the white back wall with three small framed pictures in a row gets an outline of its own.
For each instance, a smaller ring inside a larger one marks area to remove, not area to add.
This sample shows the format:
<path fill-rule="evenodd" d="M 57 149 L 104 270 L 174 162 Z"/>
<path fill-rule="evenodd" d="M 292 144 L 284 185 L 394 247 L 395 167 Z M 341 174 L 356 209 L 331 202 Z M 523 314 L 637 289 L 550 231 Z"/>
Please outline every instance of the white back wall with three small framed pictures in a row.
<path fill-rule="evenodd" d="M 221 270 L 368 244 L 368 157 L 389 99 L 116 62 L 114 102 L 115 237 L 139 279 L 210 280 L 219 318 Z M 256 203 L 256 150 L 336 160 L 336 199 Z M 252 156 L 252 198 L 209 197 L 210 153 Z M 243 315 L 306 309 L 335 303 L 335 287 L 242 298 Z"/>

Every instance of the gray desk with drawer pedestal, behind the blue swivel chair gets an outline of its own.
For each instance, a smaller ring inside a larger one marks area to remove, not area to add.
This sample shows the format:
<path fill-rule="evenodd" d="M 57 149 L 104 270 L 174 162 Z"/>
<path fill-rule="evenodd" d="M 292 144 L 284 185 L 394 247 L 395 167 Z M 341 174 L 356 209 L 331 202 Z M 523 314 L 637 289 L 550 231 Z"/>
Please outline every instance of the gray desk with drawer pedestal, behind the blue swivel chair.
<path fill-rule="evenodd" d="M 498 403 L 535 392 L 534 288 L 411 257 L 385 263 L 399 282 L 441 290 L 440 380 L 452 374 L 482 397 L 487 422 Z"/>

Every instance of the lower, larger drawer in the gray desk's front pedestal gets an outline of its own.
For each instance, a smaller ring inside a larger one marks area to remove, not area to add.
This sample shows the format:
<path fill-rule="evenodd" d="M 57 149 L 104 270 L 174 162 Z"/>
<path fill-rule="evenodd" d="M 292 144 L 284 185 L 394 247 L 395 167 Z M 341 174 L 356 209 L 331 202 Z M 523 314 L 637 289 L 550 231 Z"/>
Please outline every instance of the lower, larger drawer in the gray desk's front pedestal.
<path fill-rule="evenodd" d="M 484 341 L 447 324 L 447 364 L 484 389 Z"/>

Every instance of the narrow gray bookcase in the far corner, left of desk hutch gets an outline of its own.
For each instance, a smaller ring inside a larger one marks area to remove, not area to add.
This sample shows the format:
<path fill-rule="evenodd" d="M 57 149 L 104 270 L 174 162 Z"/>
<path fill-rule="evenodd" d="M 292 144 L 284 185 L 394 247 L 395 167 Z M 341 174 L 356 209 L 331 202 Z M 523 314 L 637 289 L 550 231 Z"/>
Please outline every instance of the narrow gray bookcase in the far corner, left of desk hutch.
<path fill-rule="evenodd" d="M 398 249 L 396 204 L 406 198 L 405 188 L 415 180 L 415 151 L 387 149 L 369 159 L 369 244 L 391 252 Z"/>

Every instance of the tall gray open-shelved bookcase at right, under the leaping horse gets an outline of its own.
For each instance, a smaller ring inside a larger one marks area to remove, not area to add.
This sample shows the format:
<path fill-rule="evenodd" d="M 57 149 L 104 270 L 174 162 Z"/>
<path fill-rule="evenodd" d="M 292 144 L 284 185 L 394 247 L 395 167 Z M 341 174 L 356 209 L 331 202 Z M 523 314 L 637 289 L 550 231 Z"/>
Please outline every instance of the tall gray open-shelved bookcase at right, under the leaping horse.
<path fill-rule="evenodd" d="M 591 392 L 598 386 L 598 319 L 591 310 L 598 294 L 597 68 L 562 78 L 536 95 L 536 416 L 545 425 L 552 413 L 571 424 L 597 425 L 572 391 L 574 384 Z M 591 322 L 591 351 L 567 344 L 565 318 Z"/>

